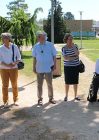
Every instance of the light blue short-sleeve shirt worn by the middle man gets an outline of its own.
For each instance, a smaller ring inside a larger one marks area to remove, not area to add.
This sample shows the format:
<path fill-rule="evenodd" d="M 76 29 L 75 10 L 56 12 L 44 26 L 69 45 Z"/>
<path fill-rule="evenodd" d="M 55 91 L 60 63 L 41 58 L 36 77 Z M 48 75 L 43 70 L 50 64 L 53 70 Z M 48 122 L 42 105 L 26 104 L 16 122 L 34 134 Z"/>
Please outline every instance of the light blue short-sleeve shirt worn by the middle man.
<path fill-rule="evenodd" d="M 44 44 L 37 43 L 32 50 L 32 56 L 36 58 L 37 73 L 51 72 L 51 66 L 54 65 L 53 58 L 57 51 L 53 43 L 46 41 Z"/>

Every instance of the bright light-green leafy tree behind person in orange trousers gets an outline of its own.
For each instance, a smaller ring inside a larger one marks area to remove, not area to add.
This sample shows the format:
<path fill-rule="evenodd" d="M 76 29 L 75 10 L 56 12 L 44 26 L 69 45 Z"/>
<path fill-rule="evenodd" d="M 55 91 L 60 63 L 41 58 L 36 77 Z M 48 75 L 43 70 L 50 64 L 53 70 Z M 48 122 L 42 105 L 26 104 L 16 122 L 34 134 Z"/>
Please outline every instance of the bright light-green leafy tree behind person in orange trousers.
<path fill-rule="evenodd" d="M 13 34 L 15 43 L 18 46 L 22 45 L 22 40 L 25 37 L 24 23 L 28 20 L 28 16 L 24 13 L 23 9 L 19 9 L 13 12 L 11 18 L 12 26 L 9 31 Z"/>

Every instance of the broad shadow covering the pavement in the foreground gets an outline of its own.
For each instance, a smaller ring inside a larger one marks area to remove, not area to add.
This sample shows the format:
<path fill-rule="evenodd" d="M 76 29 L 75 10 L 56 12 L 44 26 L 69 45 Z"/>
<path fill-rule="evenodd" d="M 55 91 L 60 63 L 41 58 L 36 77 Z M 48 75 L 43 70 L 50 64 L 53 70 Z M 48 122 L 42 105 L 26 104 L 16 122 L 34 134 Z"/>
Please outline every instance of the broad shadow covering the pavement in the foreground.
<path fill-rule="evenodd" d="M 13 108 L 0 115 L 0 139 L 98 140 L 98 111 L 99 103 L 74 100 Z"/>

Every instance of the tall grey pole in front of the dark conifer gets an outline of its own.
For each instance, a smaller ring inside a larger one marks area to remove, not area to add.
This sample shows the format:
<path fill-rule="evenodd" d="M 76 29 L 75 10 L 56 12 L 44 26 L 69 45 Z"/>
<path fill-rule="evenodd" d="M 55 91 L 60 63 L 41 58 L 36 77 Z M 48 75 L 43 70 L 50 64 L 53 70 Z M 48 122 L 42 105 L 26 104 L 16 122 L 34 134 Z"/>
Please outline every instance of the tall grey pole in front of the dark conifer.
<path fill-rule="evenodd" d="M 51 42 L 54 43 L 54 0 L 51 0 Z"/>

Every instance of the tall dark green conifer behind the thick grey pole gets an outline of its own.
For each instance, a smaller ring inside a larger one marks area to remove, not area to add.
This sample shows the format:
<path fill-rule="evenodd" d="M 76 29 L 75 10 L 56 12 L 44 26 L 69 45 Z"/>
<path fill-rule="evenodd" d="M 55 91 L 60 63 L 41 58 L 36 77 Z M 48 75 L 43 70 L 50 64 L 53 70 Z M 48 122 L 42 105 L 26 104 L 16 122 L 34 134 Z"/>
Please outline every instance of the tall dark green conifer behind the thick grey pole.
<path fill-rule="evenodd" d="M 44 30 L 48 34 L 48 39 L 51 41 L 51 10 L 48 14 L 48 19 L 45 22 Z M 54 6 L 54 41 L 55 43 L 62 43 L 63 36 L 66 32 L 66 25 L 63 20 L 63 12 L 61 3 L 56 0 L 56 5 Z"/>

